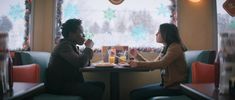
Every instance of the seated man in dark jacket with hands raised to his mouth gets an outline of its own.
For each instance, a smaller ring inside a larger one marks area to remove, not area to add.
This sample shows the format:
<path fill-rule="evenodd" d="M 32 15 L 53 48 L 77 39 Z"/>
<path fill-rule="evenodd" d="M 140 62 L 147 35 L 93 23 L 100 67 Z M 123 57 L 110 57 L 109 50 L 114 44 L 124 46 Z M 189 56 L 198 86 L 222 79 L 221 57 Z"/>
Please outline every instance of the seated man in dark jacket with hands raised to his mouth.
<path fill-rule="evenodd" d="M 47 69 L 48 92 L 63 95 L 78 95 L 85 100 L 101 100 L 105 85 L 102 82 L 84 81 L 79 68 L 88 66 L 93 56 L 92 40 L 86 40 L 82 21 L 69 19 L 62 25 L 63 39 L 54 48 Z M 78 45 L 86 48 L 79 50 Z"/>

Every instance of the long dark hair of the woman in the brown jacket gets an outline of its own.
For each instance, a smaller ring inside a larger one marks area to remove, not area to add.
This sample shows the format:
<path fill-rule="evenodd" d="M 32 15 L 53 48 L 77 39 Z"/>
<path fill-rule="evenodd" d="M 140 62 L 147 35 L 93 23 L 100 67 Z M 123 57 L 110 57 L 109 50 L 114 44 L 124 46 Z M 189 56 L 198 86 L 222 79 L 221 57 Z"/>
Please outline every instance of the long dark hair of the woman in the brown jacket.
<path fill-rule="evenodd" d="M 161 24 L 159 31 L 162 36 L 162 39 L 166 43 L 166 45 L 162 51 L 163 54 L 166 53 L 166 51 L 171 43 L 180 43 L 182 45 L 182 49 L 186 50 L 186 48 L 184 47 L 184 45 L 181 42 L 179 31 L 178 31 L 178 28 L 176 27 L 175 24 L 170 24 L 170 23 Z"/>

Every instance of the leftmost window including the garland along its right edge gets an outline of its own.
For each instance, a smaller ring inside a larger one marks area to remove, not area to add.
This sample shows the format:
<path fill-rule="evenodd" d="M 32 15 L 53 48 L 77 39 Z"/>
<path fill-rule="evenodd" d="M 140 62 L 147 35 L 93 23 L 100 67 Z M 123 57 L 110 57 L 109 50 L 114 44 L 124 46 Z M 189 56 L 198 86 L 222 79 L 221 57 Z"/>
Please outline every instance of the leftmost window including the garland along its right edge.
<path fill-rule="evenodd" d="M 29 19 L 31 0 L 1 0 L 1 4 L 0 31 L 8 33 L 9 49 L 30 50 Z"/>

